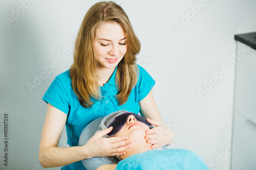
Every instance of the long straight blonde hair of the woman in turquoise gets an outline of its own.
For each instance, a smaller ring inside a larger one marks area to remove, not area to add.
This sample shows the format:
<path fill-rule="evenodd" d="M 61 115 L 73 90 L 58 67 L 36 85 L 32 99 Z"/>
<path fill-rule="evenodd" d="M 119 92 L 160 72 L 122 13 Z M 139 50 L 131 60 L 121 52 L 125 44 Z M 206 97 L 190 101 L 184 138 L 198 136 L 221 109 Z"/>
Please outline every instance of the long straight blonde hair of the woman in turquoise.
<path fill-rule="evenodd" d="M 116 3 L 99 2 L 94 4 L 83 18 L 75 41 L 74 63 L 70 67 L 72 88 L 83 107 L 91 107 L 91 98 L 100 100 L 100 86 L 96 79 L 98 61 L 95 57 L 93 41 L 95 30 L 102 23 L 117 22 L 126 32 L 127 50 L 119 62 L 116 72 L 119 105 L 124 104 L 137 83 L 138 67 L 136 55 L 140 52 L 140 41 L 136 37 L 129 18 Z"/>

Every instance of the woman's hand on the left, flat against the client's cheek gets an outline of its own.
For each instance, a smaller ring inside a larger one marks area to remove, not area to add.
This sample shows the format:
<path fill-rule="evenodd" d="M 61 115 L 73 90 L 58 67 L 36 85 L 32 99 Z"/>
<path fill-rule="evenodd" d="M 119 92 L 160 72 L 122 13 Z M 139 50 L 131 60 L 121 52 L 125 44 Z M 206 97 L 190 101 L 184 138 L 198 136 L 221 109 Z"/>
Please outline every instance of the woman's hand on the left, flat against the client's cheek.
<path fill-rule="evenodd" d="M 112 129 L 113 127 L 109 127 L 108 129 L 95 133 L 94 136 L 82 146 L 89 158 L 125 155 L 125 151 L 132 147 L 132 140 L 128 140 L 129 136 L 102 138 L 105 134 L 110 133 Z"/>

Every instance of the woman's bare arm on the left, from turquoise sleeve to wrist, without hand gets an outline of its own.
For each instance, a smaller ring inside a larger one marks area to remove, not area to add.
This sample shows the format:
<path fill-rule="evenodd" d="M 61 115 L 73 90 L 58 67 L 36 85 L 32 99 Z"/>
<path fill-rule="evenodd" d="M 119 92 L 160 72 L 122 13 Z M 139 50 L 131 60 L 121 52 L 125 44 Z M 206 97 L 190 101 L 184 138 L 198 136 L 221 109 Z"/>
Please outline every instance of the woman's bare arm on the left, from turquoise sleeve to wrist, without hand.
<path fill-rule="evenodd" d="M 39 147 L 39 162 L 42 167 L 64 166 L 88 158 L 82 147 L 58 148 L 66 119 L 67 114 L 48 104 Z"/>

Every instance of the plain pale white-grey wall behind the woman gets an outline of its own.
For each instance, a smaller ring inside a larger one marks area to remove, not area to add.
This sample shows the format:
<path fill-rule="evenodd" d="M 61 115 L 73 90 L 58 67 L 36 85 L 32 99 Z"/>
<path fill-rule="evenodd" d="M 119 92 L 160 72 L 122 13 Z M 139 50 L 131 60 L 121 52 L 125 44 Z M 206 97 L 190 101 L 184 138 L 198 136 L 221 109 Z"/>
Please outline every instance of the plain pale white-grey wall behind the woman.
<path fill-rule="evenodd" d="M 0 135 L 3 139 L 7 112 L 10 137 L 9 166 L 3 165 L 1 149 L 1 169 L 42 169 L 38 148 L 47 104 L 41 98 L 72 64 L 72 53 L 64 50 L 72 47 L 84 14 L 96 2 L 35 1 L 10 27 L 4 17 L 11 18 L 12 9 L 22 4 L 0 2 Z M 138 63 L 156 80 L 158 109 L 176 132 L 170 148 L 195 151 L 210 169 L 229 169 L 230 156 L 220 158 L 231 143 L 234 66 L 227 58 L 236 52 L 234 34 L 256 31 L 256 1 L 115 2 L 130 17 L 142 44 Z M 200 11 L 193 16 L 190 6 L 198 4 Z M 187 14 L 189 22 L 182 20 Z M 182 21 L 188 23 L 177 29 L 175 23 Z M 53 61 L 57 67 L 30 91 L 27 83 L 34 84 L 34 75 Z M 197 88 L 203 89 L 222 66 L 228 71 L 200 98 Z"/>

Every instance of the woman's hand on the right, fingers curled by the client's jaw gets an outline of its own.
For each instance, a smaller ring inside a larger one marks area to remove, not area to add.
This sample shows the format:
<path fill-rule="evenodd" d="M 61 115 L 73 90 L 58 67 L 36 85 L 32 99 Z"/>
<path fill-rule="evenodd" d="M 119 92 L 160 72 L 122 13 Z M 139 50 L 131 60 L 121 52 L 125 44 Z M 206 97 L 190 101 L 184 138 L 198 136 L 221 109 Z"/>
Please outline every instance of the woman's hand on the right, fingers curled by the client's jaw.
<path fill-rule="evenodd" d="M 166 144 L 172 144 L 175 138 L 175 132 L 162 122 L 146 118 L 146 120 L 155 128 L 146 131 L 145 138 L 147 143 L 151 143 L 151 148 L 160 148 Z"/>

